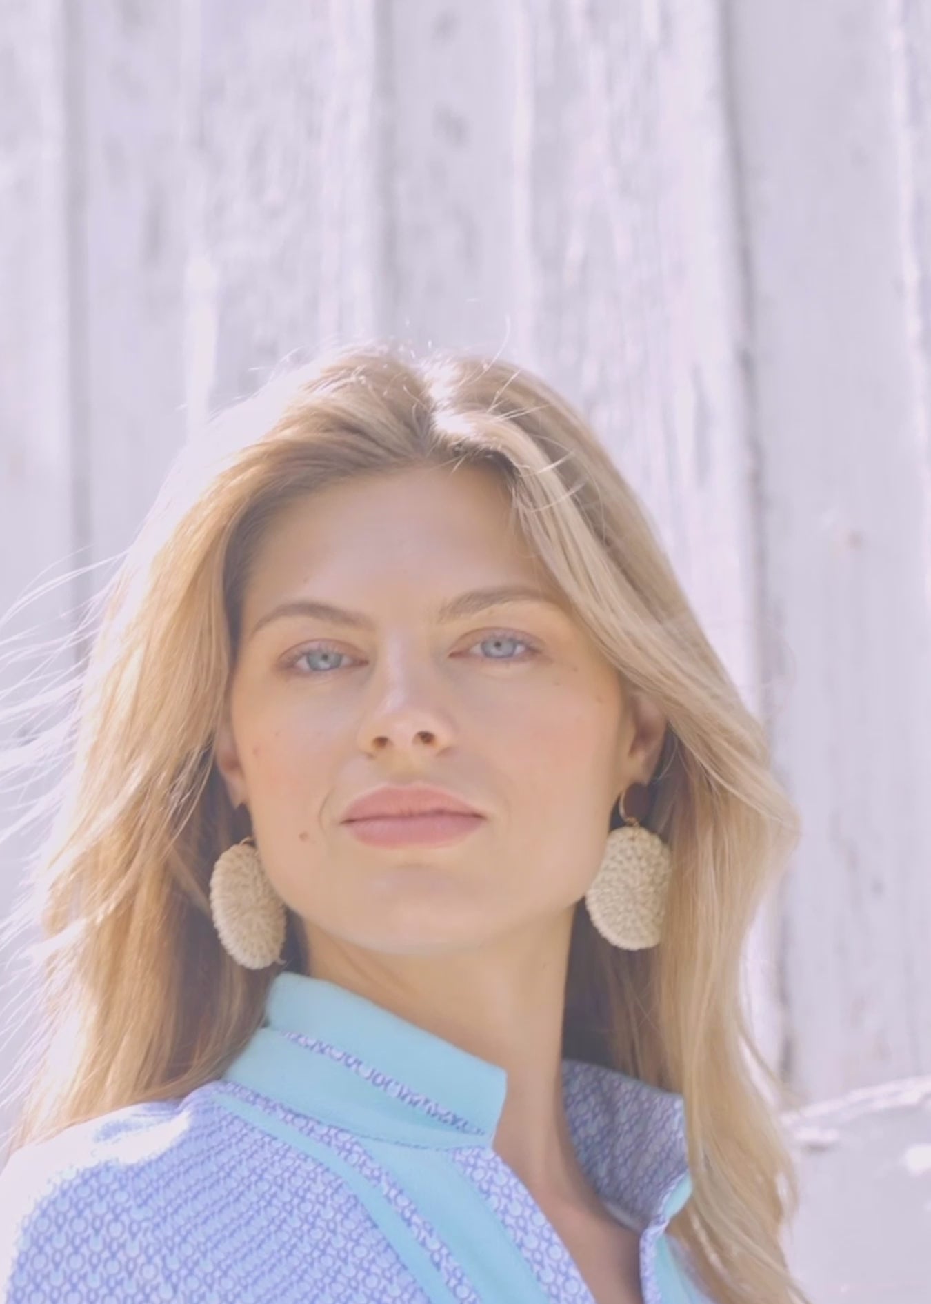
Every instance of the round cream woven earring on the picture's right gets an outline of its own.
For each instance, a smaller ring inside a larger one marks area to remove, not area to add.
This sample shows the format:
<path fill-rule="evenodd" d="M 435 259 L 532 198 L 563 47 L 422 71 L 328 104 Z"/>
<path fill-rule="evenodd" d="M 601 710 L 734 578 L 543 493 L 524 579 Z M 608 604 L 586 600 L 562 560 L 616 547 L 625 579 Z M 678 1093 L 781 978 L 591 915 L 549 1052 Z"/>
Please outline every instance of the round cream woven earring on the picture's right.
<path fill-rule="evenodd" d="M 662 934 L 666 891 L 673 868 L 669 846 L 632 815 L 623 828 L 608 835 L 608 845 L 585 905 L 592 923 L 613 947 L 643 951 L 655 947 Z"/>

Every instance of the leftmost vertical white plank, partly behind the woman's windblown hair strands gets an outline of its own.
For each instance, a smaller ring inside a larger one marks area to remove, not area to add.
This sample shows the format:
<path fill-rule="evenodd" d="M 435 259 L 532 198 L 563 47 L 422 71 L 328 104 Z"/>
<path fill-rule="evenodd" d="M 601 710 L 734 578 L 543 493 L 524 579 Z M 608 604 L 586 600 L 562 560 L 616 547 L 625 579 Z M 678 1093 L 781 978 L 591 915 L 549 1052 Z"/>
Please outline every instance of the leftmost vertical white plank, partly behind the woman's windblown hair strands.
<path fill-rule="evenodd" d="M 37 664 L 17 659 L 29 643 L 73 629 L 74 589 L 57 587 L 17 609 L 40 583 L 60 578 L 86 557 L 73 556 L 69 361 L 69 130 L 63 5 L 59 0 L 8 0 L 0 9 L 3 159 L 0 166 L 0 694 Z M 66 672 L 60 659 L 43 679 Z M 50 720 L 42 721 L 48 724 Z M 0 729 L 0 751 L 29 741 L 38 721 Z M 0 829 L 22 815 L 25 797 L 5 781 Z M 0 918 L 18 898 L 22 865 L 34 835 L 0 845 Z M 33 940 L 26 939 L 26 940 Z M 0 1065 L 22 1047 L 22 957 L 0 952 Z M 0 1146 L 13 1121 L 5 1082 Z"/>

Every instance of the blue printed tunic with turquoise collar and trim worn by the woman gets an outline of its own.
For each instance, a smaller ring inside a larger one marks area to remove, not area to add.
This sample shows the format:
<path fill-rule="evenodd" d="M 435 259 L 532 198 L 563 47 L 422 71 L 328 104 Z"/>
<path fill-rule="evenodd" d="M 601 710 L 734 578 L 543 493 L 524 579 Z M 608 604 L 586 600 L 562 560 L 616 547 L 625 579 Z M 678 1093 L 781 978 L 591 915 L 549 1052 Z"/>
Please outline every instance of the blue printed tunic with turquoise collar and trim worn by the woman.
<path fill-rule="evenodd" d="M 506 1077 L 355 992 L 280 973 L 222 1078 L 13 1154 L 0 1299 L 592 1304 L 493 1149 Z M 666 1231 L 692 1189 L 682 1097 L 576 1060 L 563 1088 L 582 1167 L 640 1234 L 644 1304 L 709 1304 Z"/>

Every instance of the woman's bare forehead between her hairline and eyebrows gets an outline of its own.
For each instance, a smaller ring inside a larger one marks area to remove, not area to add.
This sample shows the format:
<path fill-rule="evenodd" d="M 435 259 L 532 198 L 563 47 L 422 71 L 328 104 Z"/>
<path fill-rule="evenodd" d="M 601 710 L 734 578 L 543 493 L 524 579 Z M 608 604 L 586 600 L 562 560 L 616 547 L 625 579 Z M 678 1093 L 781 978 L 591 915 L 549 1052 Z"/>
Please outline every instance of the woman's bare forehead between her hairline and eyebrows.
<path fill-rule="evenodd" d="M 253 558 L 246 604 L 313 584 L 441 592 L 471 583 L 557 585 L 485 467 L 417 467 L 331 485 L 288 503 Z M 330 595 L 332 596 L 332 595 Z"/>

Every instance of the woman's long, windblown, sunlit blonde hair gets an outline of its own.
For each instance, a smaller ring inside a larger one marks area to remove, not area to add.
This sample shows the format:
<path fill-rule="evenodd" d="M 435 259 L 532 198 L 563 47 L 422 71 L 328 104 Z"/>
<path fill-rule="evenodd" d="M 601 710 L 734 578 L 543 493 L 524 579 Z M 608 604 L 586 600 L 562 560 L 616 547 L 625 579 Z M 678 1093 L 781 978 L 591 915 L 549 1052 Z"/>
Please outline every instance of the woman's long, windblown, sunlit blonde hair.
<path fill-rule="evenodd" d="M 557 393 L 499 359 L 334 351 L 181 450 L 98 600 L 66 724 L 50 730 L 64 777 L 43 806 L 55 819 L 14 925 L 40 922 L 48 1034 L 30 1046 L 12 1148 L 181 1097 L 218 1077 L 258 1026 L 275 970 L 231 961 L 209 910 L 214 861 L 241 836 L 213 742 L 250 559 L 296 498 L 459 462 L 501 475 L 578 618 L 669 722 L 645 820 L 673 855 L 664 938 L 614 949 L 579 904 L 565 1051 L 682 1093 L 694 1196 L 669 1230 L 715 1300 L 807 1304 L 780 1244 L 797 1176 L 751 1065 L 777 1098 L 786 1091 L 754 1045 L 741 977 L 750 926 L 798 840 L 797 811 L 608 451 Z M 306 971 L 293 917 L 284 955 Z"/>

